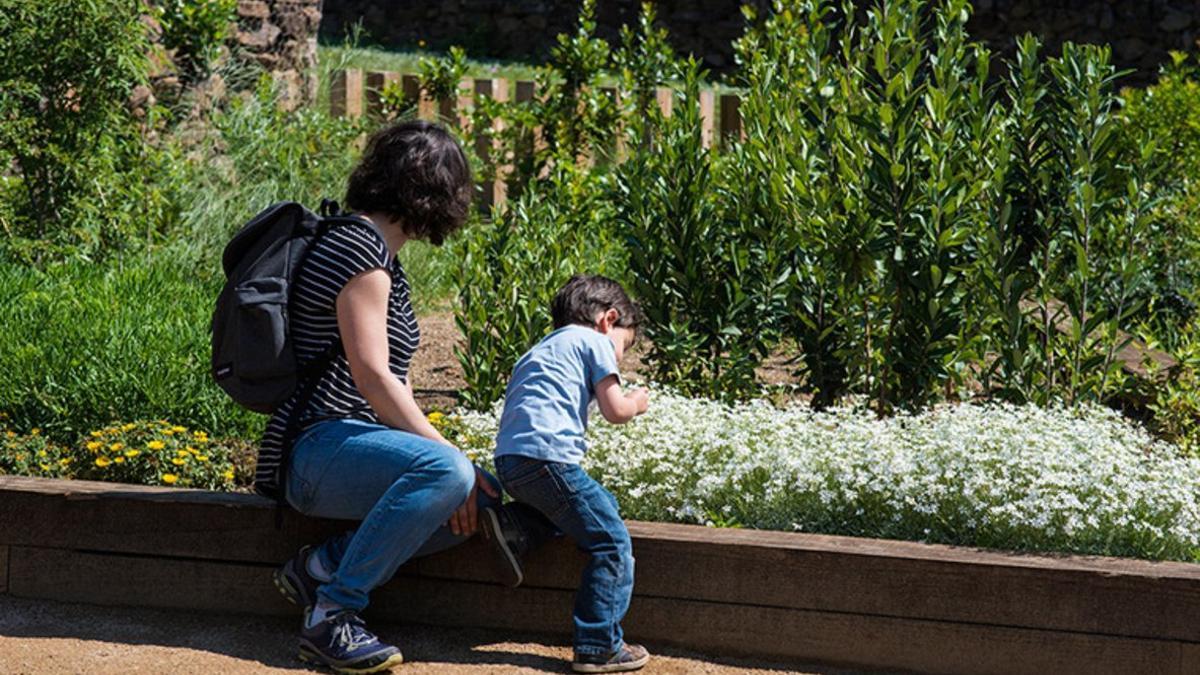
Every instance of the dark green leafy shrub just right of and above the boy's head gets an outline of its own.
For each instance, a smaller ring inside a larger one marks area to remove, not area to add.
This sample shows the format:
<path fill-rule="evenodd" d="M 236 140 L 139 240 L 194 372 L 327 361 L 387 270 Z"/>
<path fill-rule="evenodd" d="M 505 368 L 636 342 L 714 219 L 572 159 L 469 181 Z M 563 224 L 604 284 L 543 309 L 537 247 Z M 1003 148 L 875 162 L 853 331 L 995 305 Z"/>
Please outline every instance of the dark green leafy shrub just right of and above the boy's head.
<path fill-rule="evenodd" d="M 653 377 L 727 399 L 755 390 L 754 369 L 773 344 L 780 246 L 743 209 L 744 177 L 703 147 L 697 96 L 692 64 L 672 117 L 643 112 L 647 125 L 634 135 L 648 142 L 616 174 L 616 225 L 646 312 Z"/>

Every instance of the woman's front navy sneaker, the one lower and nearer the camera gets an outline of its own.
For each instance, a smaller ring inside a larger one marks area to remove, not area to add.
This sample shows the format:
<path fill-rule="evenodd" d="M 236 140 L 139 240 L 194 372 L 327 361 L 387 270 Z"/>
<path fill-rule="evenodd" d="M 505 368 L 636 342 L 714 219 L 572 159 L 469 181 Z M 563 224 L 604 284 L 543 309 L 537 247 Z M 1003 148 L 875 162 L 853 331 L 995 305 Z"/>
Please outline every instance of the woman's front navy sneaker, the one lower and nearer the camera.
<path fill-rule="evenodd" d="M 400 650 L 376 638 L 358 614 L 342 610 L 308 627 L 310 609 L 300 629 L 300 661 L 328 665 L 337 673 L 378 673 L 404 662 Z"/>

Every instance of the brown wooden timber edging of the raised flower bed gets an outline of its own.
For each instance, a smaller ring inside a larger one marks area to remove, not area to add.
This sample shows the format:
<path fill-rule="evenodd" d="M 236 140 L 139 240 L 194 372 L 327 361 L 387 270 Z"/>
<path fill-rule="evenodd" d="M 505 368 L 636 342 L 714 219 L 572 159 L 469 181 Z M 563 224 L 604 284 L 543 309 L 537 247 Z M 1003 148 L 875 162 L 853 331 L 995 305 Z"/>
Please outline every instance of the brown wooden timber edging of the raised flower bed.
<path fill-rule="evenodd" d="M 294 614 L 271 569 L 348 524 L 252 495 L 0 477 L 0 592 Z M 631 638 L 701 652 L 923 673 L 1200 673 L 1200 566 L 630 522 Z M 480 544 L 414 561 L 376 620 L 564 633 L 582 567 L 524 586 Z"/>

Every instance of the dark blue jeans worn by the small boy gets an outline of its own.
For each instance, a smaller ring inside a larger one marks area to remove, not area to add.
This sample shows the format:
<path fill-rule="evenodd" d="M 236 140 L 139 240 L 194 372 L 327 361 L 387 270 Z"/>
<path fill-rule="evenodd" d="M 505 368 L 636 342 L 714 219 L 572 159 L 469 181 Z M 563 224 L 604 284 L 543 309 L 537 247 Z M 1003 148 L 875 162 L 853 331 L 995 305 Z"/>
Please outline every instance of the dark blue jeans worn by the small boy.
<path fill-rule="evenodd" d="M 634 595 L 634 546 L 617 500 L 574 464 L 500 455 L 496 472 L 512 498 L 540 510 L 589 556 L 575 595 L 575 651 L 617 651 Z"/>

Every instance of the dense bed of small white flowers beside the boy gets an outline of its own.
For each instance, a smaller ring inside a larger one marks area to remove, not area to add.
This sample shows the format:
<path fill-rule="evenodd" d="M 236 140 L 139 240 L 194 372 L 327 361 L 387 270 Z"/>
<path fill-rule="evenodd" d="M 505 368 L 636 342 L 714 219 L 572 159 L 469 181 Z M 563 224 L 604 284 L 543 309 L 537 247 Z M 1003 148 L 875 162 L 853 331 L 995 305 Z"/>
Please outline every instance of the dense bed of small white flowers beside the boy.
<path fill-rule="evenodd" d="M 490 465 L 497 416 L 455 417 Z M 1200 561 L 1200 460 L 1100 407 L 881 420 L 658 392 L 592 418 L 584 467 L 626 518 Z"/>

